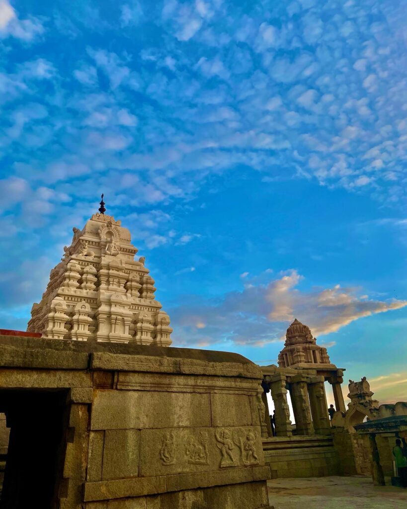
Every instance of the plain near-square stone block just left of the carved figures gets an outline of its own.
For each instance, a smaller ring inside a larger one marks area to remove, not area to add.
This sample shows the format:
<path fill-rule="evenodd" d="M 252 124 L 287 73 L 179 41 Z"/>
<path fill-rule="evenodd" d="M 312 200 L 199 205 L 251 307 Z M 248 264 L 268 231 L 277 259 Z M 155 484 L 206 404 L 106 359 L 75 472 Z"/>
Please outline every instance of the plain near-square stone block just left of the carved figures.
<path fill-rule="evenodd" d="M 105 431 L 102 479 L 136 477 L 139 445 L 138 430 Z"/>

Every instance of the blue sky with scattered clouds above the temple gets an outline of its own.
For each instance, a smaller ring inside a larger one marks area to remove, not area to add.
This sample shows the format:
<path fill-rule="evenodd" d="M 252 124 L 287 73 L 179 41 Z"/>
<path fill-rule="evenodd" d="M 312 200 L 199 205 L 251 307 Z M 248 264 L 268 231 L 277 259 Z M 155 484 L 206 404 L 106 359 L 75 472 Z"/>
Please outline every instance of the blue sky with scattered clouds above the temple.
<path fill-rule="evenodd" d="M 105 195 L 173 346 L 277 362 L 306 323 L 407 400 L 401 0 L 0 0 L 0 327 Z"/>

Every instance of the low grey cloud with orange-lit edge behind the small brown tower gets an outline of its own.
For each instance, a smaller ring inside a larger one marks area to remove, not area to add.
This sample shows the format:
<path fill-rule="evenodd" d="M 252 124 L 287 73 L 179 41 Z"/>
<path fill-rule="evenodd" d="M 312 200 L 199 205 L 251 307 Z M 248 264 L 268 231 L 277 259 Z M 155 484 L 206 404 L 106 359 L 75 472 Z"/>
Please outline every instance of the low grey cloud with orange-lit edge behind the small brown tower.
<path fill-rule="evenodd" d="M 369 299 L 357 288 L 340 285 L 299 290 L 303 279 L 290 270 L 266 283 L 249 280 L 243 290 L 216 300 L 189 297 L 171 310 L 180 343 L 202 340 L 195 326 L 198 321 L 206 324 L 205 341 L 263 346 L 281 340 L 294 318 L 307 324 L 317 336 L 336 332 L 360 318 L 407 306 L 406 300 Z"/>

